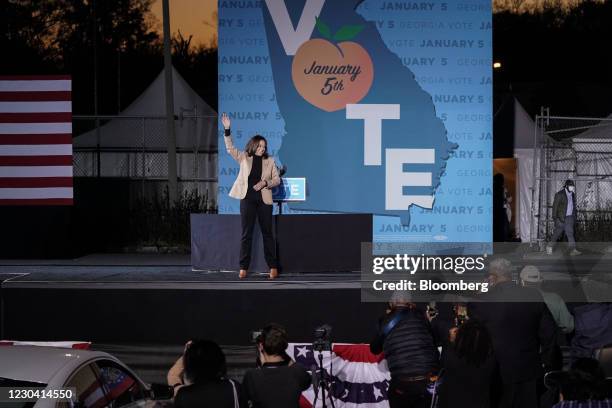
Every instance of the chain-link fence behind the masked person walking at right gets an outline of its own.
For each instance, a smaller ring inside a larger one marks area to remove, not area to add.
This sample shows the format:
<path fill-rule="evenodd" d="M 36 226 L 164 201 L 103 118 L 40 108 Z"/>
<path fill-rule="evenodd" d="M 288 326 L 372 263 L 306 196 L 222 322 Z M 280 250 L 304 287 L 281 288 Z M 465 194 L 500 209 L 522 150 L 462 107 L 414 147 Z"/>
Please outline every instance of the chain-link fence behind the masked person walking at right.
<path fill-rule="evenodd" d="M 576 236 L 583 242 L 612 239 L 612 117 L 536 117 L 532 241 L 548 241 L 552 205 L 566 180 L 576 183 Z"/>

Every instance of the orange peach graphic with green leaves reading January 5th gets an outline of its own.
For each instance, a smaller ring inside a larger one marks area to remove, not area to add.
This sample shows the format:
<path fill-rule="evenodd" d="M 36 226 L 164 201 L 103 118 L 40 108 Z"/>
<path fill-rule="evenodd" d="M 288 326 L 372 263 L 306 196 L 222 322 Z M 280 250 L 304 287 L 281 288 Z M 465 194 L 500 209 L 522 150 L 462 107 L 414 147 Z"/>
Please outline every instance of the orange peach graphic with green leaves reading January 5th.
<path fill-rule="evenodd" d="M 324 37 L 331 37 L 329 29 L 319 19 L 317 28 Z M 352 38 L 361 28 L 342 27 L 333 39 Z M 291 78 L 306 101 L 324 111 L 334 112 L 367 95 L 374 79 L 374 66 L 368 52 L 356 42 L 335 44 L 315 38 L 298 48 L 293 57 Z"/>

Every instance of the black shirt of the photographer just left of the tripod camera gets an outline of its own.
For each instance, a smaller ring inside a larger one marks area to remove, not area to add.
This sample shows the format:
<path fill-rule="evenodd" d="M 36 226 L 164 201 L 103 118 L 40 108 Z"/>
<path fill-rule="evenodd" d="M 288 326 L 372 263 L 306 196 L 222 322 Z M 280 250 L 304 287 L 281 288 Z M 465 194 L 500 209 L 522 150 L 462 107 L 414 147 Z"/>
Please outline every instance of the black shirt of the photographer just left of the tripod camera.
<path fill-rule="evenodd" d="M 249 370 L 242 385 L 253 408 L 298 408 L 311 376 L 300 364 L 266 363 Z"/>

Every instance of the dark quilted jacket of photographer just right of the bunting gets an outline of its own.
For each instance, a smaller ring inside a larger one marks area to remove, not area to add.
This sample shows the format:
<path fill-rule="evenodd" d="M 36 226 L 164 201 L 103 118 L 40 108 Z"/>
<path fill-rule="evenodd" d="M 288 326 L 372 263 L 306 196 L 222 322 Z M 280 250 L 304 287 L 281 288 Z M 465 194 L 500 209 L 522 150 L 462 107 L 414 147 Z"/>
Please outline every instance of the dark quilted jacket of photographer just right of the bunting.
<path fill-rule="evenodd" d="M 397 313 L 404 316 L 385 337 L 384 327 Z M 416 309 L 398 309 L 381 319 L 376 337 L 370 343 L 373 354 L 385 353 L 392 378 L 416 377 L 437 373 L 438 349 L 429 322 Z"/>

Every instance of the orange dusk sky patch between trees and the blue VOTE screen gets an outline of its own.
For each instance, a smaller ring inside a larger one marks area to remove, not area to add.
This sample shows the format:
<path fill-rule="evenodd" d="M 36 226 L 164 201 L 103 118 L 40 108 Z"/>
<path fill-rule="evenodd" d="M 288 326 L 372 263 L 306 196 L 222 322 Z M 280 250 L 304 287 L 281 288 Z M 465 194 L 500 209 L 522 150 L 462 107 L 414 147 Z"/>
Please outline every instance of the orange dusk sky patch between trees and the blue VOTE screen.
<path fill-rule="evenodd" d="M 214 29 L 204 22 L 213 23 L 212 14 L 217 10 L 217 0 L 169 0 L 170 29 L 173 33 L 179 30 L 185 38 L 193 35 L 192 43 L 208 44 Z M 162 2 L 157 0 L 152 7 L 158 19 L 158 30 L 162 31 Z M 215 22 L 216 24 L 216 22 Z"/>

